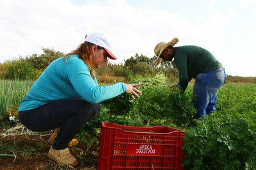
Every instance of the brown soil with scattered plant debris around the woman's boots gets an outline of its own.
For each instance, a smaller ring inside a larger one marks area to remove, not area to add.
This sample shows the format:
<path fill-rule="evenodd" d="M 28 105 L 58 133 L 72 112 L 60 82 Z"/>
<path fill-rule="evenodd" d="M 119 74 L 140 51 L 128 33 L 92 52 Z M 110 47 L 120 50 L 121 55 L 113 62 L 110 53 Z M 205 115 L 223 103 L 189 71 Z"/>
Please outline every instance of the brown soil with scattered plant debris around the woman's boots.
<path fill-rule="evenodd" d="M 0 130 L 1 132 L 1 130 Z M 96 169 L 93 163 L 84 161 L 81 153 L 86 150 L 83 144 L 77 144 L 75 148 L 70 148 L 70 152 L 74 155 L 79 165 L 75 168 L 68 166 L 59 166 L 47 157 L 51 145 L 47 140 L 51 134 L 47 135 L 6 135 L 0 136 L 0 144 L 6 148 L 17 146 L 14 150 L 8 151 L 8 156 L 0 156 L 0 169 Z M 92 146 L 92 150 L 97 150 L 97 146 Z M 0 150 L 1 151 L 1 150 Z M 0 153 L 6 154 L 6 153 Z M 86 153 L 86 157 L 95 157 Z M 97 158 L 94 159 L 97 162 Z M 88 165 L 90 164 L 90 165 Z"/>

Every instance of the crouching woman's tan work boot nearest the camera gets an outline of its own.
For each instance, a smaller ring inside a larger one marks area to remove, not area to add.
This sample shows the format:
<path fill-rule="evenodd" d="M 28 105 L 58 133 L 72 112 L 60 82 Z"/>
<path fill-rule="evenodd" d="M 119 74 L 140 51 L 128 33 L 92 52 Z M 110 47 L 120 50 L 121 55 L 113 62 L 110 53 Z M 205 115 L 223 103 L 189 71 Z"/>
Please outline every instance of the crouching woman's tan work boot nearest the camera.
<path fill-rule="evenodd" d="M 69 166 L 77 166 L 78 162 L 76 158 L 71 155 L 68 148 L 64 150 L 54 150 L 52 147 L 50 148 L 47 156 L 57 162 L 57 164 L 69 165 Z"/>

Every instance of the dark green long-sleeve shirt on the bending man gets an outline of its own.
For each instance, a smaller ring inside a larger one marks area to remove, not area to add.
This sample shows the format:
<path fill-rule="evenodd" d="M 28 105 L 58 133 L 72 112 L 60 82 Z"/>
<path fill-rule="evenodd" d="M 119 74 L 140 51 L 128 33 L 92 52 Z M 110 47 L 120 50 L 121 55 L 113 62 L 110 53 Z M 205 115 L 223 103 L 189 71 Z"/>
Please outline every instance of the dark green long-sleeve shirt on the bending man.
<path fill-rule="evenodd" d="M 182 89 L 188 87 L 188 82 L 198 73 L 208 73 L 222 68 L 221 63 L 202 47 L 186 45 L 173 47 L 174 63 L 179 70 L 179 84 Z"/>

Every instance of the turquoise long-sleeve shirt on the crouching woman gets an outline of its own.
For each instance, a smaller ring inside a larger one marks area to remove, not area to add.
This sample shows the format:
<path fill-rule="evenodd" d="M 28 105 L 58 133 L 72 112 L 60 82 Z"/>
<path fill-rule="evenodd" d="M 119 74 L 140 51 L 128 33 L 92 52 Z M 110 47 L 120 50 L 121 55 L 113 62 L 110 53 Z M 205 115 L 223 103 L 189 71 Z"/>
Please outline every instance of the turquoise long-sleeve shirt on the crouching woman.
<path fill-rule="evenodd" d="M 84 98 L 91 103 L 101 103 L 121 95 L 124 83 L 99 86 L 90 70 L 77 55 L 58 58 L 45 69 L 19 105 L 19 111 L 35 109 L 40 105 L 65 98 Z"/>

